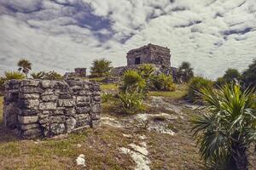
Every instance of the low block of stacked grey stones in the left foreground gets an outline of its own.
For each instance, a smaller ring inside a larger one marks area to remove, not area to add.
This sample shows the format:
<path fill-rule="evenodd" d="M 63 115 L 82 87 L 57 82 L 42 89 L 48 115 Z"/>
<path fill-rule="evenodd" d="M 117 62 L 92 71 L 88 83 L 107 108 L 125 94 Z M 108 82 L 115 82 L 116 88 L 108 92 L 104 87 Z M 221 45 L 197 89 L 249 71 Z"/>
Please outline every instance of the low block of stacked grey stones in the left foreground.
<path fill-rule="evenodd" d="M 92 127 L 100 112 L 101 89 L 96 82 L 26 79 L 6 83 L 3 122 L 17 128 L 25 139 Z"/>

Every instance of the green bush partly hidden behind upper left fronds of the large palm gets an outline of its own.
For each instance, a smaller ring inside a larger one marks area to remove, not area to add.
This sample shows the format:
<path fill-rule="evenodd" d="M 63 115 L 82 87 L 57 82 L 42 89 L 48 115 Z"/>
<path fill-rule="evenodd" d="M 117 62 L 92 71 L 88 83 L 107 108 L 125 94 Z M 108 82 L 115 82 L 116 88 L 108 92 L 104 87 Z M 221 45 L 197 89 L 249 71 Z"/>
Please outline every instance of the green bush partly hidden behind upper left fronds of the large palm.
<path fill-rule="evenodd" d="M 213 88 L 213 82 L 204 77 L 194 77 L 189 83 L 189 92 L 186 99 L 194 102 L 200 102 L 200 98 L 197 93 L 201 88 Z"/>

